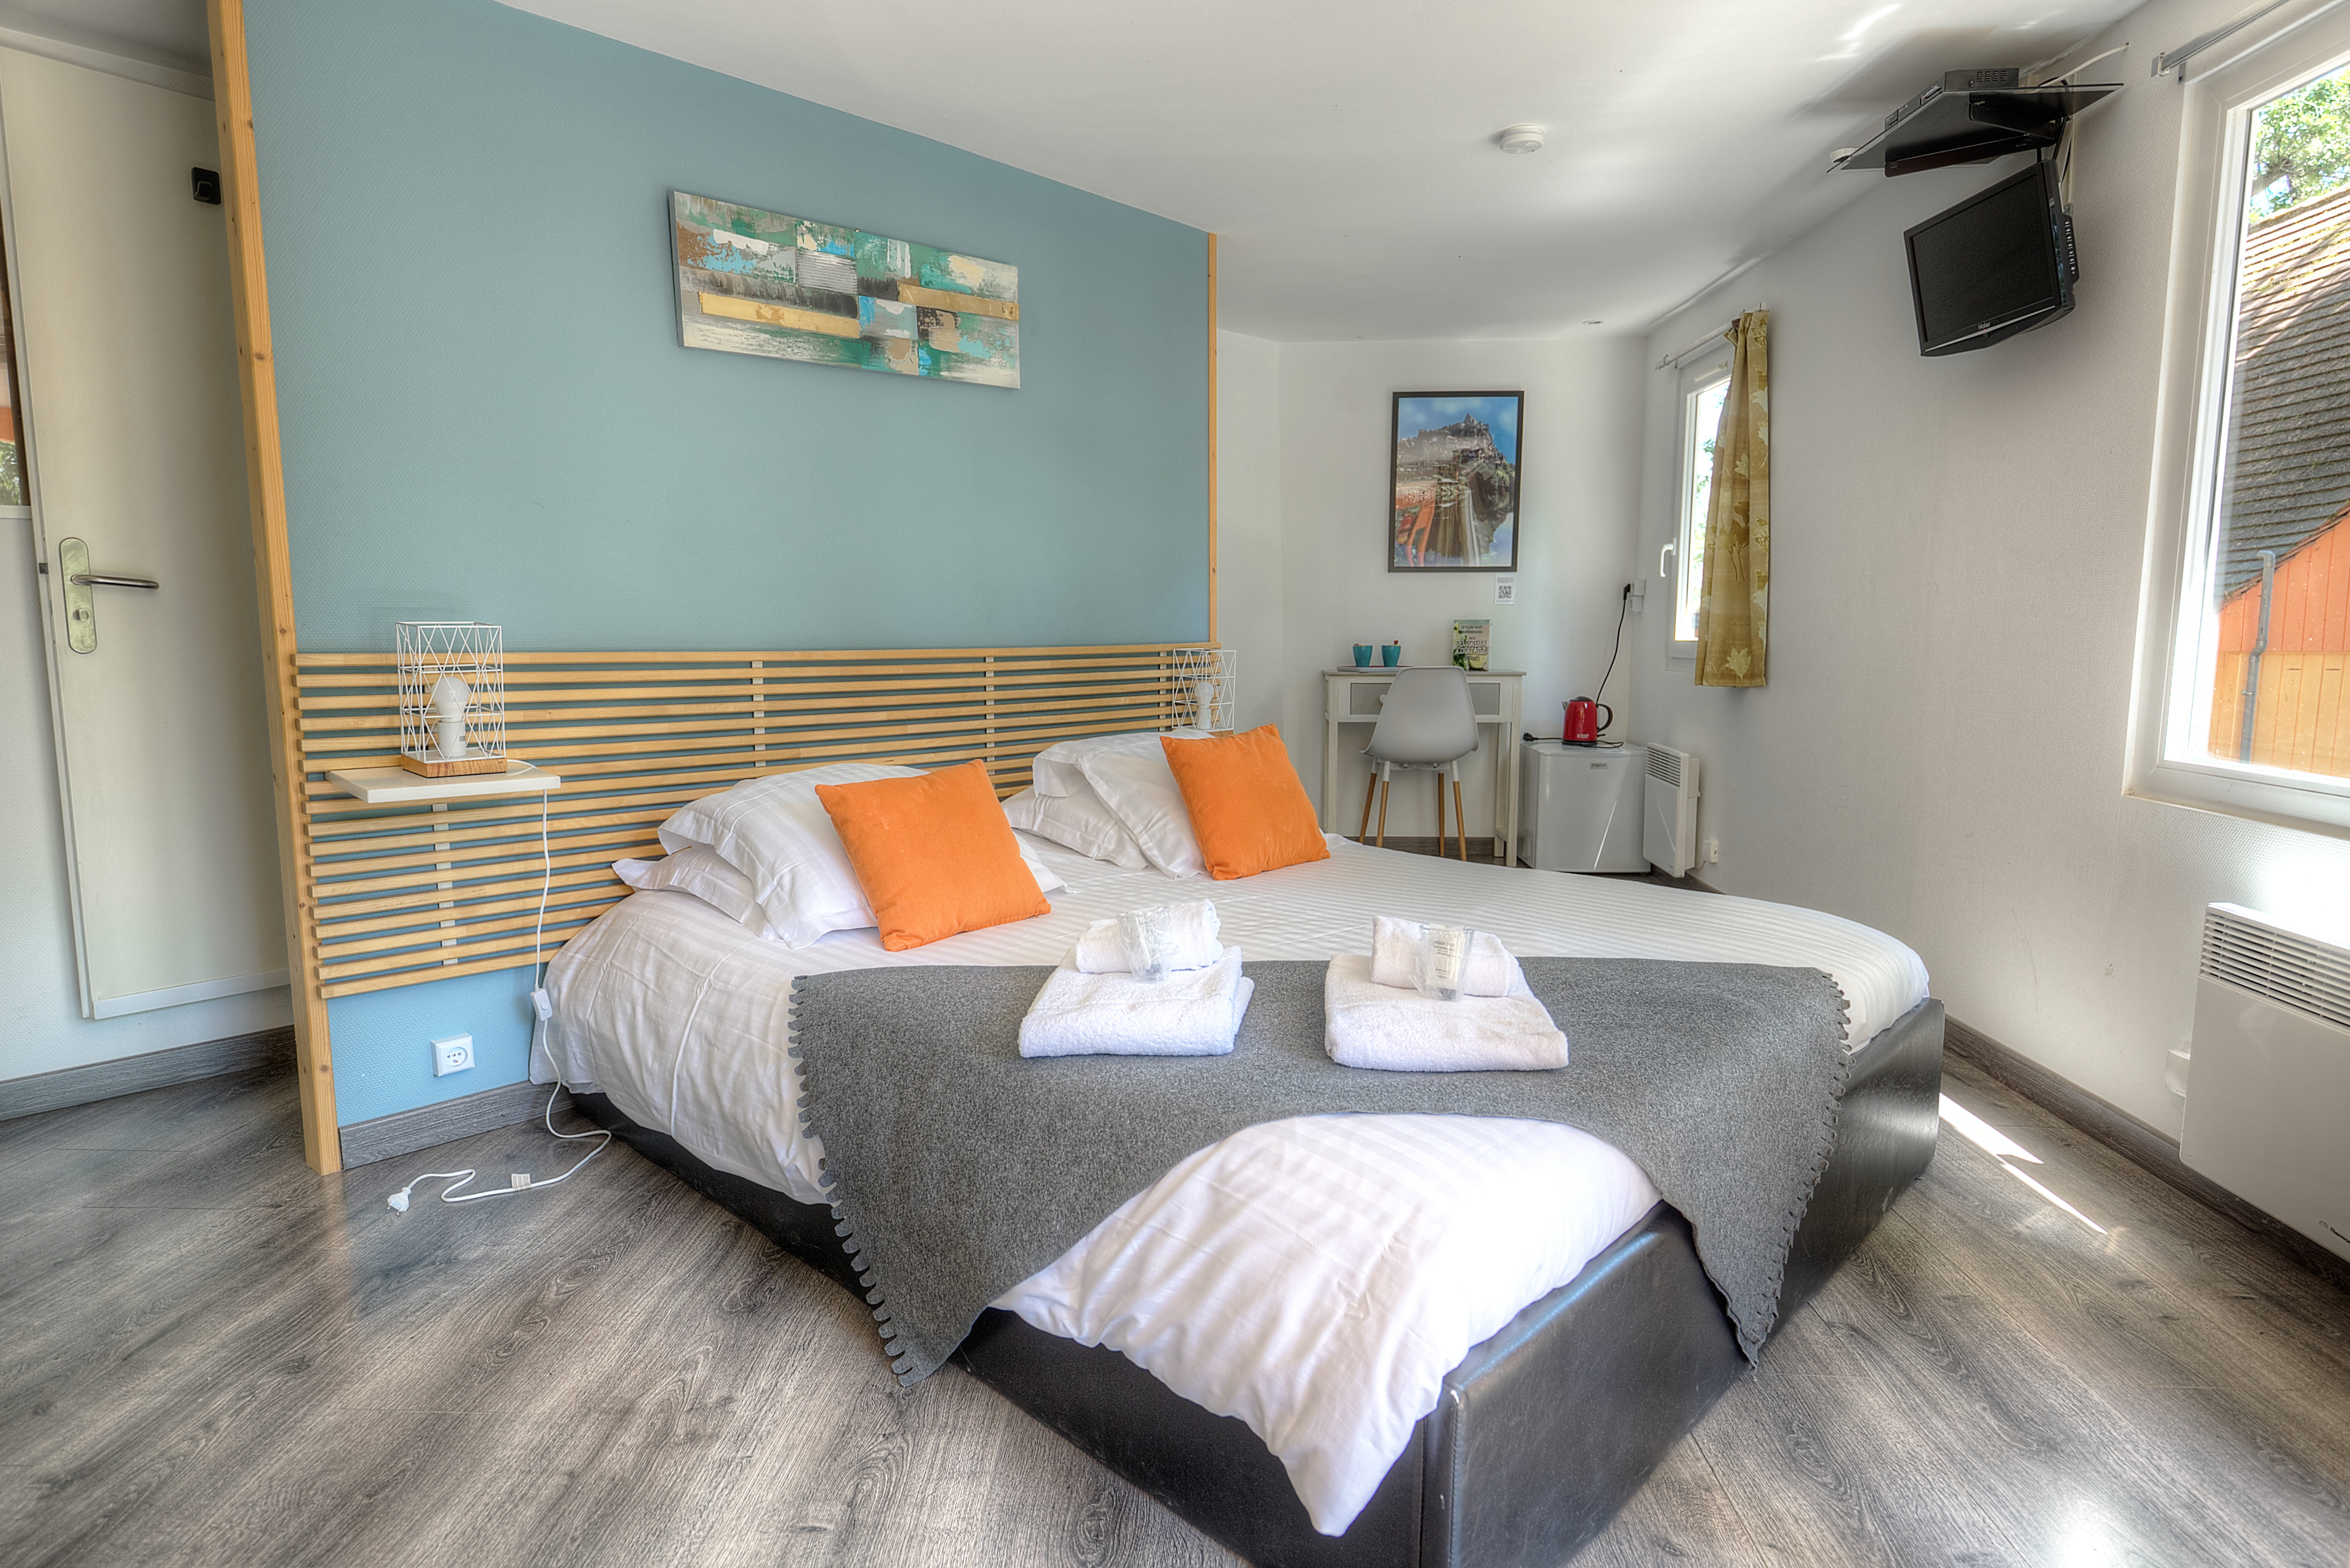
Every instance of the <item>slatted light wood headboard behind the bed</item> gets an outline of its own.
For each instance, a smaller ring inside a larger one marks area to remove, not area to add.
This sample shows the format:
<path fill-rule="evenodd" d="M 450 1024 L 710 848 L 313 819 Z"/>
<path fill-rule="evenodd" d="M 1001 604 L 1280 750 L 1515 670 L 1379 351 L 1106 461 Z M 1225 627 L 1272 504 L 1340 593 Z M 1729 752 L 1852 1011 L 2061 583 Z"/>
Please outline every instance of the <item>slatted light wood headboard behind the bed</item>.
<path fill-rule="evenodd" d="M 296 898 L 317 994 L 552 957 L 627 893 L 613 860 L 660 853 L 653 830 L 677 806 L 743 778 L 978 757 L 1013 795 L 1055 741 L 1175 724 L 1184 646 L 1201 644 L 508 654 L 508 752 L 564 780 L 545 853 L 538 797 L 367 806 L 327 783 L 327 769 L 397 762 L 397 672 L 390 654 L 301 654 Z"/>

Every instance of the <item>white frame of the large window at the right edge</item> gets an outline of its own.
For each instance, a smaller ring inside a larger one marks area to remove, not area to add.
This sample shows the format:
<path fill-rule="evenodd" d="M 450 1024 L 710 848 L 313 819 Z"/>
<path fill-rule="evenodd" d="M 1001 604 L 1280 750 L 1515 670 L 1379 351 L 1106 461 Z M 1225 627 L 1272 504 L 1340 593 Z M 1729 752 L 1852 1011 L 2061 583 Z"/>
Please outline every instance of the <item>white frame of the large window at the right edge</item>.
<path fill-rule="evenodd" d="M 2336 837 L 2350 837 L 2350 778 L 2207 755 L 2216 654 L 2207 646 L 2202 607 L 2211 595 L 2211 531 L 2228 463 L 2251 115 L 2280 92 L 2345 63 L 2350 16 L 2324 14 L 2214 61 L 2181 87 L 2171 289 L 2124 762 L 2127 795 Z"/>

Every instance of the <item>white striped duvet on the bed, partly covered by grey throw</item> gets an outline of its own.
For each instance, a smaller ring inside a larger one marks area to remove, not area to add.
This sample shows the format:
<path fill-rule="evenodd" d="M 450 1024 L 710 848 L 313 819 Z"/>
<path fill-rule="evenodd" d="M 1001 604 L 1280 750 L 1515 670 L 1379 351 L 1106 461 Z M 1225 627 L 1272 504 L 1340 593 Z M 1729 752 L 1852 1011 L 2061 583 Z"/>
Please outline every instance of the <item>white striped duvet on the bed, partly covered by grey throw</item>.
<path fill-rule="evenodd" d="M 1093 922 L 1215 898 L 1250 959 L 1370 950 L 1370 917 L 1443 919 L 1525 957 L 1828 971 L 1859 1046 L 1925 999 L 1925 964 L 1833 914 L 1654 884 L 1462 865 L 1332 839 L 1330 860 L 1175 882 L 1029 839 L 1053 914 L 884 952 L 872 931 L 785 950 L 686 893 L 637 893 L 571 938 L 533 1077 L 599 1088 L 703 1161 L 825 1201 L 787 1046 L 792 980 L 874 964 L 1053 964 Z M 1109 1345 L 1238 1415 L 1337 1535 L 1473 1345 L 1563 1286 L 1657 1201 L 1622 1152 L 1549 1121 L 1300 1117 L 1191 1154 L 996 1305 Z"/>

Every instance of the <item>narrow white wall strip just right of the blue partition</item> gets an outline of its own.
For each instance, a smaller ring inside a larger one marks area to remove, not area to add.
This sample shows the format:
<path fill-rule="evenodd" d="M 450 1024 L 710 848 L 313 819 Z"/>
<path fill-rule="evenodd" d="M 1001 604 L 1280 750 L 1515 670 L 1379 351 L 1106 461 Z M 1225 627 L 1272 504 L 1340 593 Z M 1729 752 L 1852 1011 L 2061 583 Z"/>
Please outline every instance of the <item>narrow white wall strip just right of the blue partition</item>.
<path fill-rule="evenodd" d="M 1217 635 L 1241 658 L 1236 729 L 1281 722 L 1281 346 L 1220 331 L 1215 581 Z"/>

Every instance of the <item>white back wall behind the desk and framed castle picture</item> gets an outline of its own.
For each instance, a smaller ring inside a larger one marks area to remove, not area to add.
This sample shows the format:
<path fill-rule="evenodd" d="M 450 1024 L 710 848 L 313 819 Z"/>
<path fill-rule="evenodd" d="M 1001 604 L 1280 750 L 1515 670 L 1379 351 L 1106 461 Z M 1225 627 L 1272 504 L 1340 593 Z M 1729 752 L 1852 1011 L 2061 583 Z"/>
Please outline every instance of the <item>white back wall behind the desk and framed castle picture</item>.
<path fill-rule="evenodd" d="M 1405 663 L 1448 663 L 1452 621 L 1492 621 L 1492 665 L 1525 670 L 1525 729 L 1558 733 L 1558 708 L 1607 668 L 1617 604 L 1633 574 L 1640 463 L 1640 343 L 1633 339 L 1469 343 L 1288 343 L 1281 350 L 1281 736 L 1307 790 L 1321 790 L 1323 679 L 1356 642 L 1403 639 Z M 1391 395 L 1525 390 L 1518 602 L 1492 574 L 1391 574 L 1386 484 Z M 1231 430 L 1231 416 L 1222 418 Z M 1229 604 L 1229 599 L 1227 599 Z M 1227 611 L 1229 614 L 1229 611 Z M 1626 623 L 1626 658 L 1631 628 Z M 1610 733 L 1636 733 L 1624 668 Z M 1342 733 L 1356 752 L 1365 729 Z M 1469 832 L 1492 832 L 1492 743 L 1462 769 Z M 1365 766 L 1347 757 L 1337 820 L 1354 832 Z M 1398 780 L 1389 832 L 1436 835 L 1429 776 Z"/>

